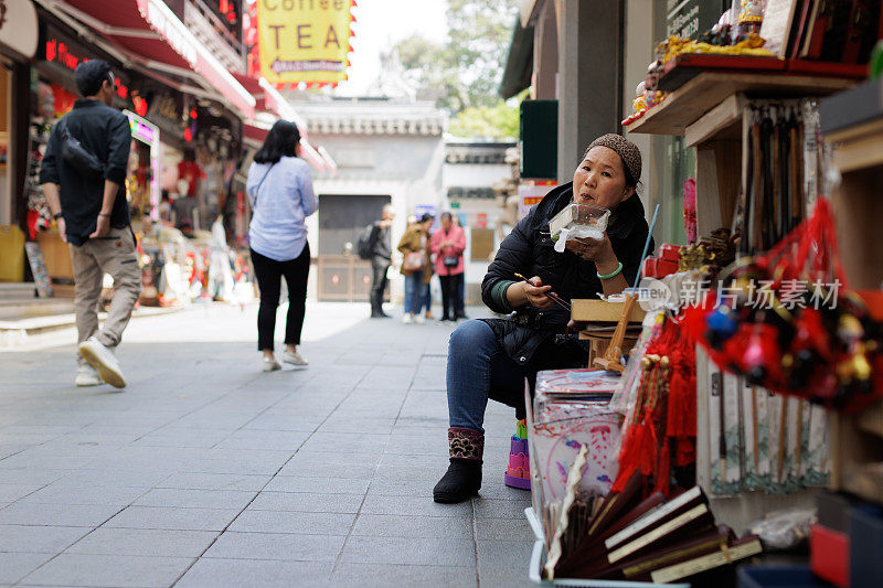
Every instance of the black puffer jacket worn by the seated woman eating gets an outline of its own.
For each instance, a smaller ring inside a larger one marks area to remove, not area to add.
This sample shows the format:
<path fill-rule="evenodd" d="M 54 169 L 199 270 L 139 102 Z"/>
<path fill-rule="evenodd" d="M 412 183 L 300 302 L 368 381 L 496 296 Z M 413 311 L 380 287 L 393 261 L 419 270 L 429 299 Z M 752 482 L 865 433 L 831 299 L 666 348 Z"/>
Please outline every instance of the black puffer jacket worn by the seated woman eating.
<path fill-rule="evenodd" d="M 549 222 L 572 200 L 572 182 L 552 190 L 503 239 L 481 282 L 481 297 L 488 308 L 509 312 L 492 298 L 491 291 L 500 280 L 515 280 L 515 272 L 525 277 L 540 276 L 543 285 L 551 285 L 552 291 L 567 300 L 598 298 L 604 291 L 593 261 L 566 249 L 564 253 L 553 249 Z M 638 274 L 648 231 L 643 205 L 637 195 L 623 202 L 610 215 L 607 236 L 617 259 L 623 263 L 623 274 L 629 285 Z M 576 342 L 555 343 L 554 335 L 563 332 L 568 321 L 570 314 L 557 306 L 545 310 L 524 306 L 506 319 L 485 319 L 512 360 L 538 370 L 585 362 L 585 352 Z"/>

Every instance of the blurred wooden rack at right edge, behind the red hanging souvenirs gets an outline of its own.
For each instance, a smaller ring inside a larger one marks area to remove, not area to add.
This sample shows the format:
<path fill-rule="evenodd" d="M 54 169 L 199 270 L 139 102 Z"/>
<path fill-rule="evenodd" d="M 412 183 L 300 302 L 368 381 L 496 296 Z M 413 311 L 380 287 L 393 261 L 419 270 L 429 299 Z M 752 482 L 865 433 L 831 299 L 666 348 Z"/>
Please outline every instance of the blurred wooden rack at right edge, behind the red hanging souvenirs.
<path fill-rule="evenodd" d="M 872 81 L 822 100 L 822 132 L 833 146 L 842 182 L 833 194 L 843 270 L 849 285 L 883 286 L 883 81 Z M 880 304 L 877 298 L 877 304 Z M 875 309 L 883 320 L 883 309 Z M 883 403 L 861 415 L 831 415 L 831 487 L 883 502 Z"/>

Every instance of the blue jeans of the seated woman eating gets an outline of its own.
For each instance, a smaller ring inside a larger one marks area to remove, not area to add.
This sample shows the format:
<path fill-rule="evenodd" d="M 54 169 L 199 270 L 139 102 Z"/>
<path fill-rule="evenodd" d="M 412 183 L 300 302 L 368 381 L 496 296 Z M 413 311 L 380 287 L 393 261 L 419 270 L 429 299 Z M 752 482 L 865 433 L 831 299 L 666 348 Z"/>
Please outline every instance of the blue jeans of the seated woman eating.
<path fill-rule="evenodd" d="M 485 431 L 488 398 L 520 406 L 524 410 L 524 378 L 531 387 L 536 371 L 506 354 L 488 323 L 471 320 L 460 324 L 448 345 L 448 418 L 451 427 Z M 522 417 L 523 418 L 523 417 Z"/>

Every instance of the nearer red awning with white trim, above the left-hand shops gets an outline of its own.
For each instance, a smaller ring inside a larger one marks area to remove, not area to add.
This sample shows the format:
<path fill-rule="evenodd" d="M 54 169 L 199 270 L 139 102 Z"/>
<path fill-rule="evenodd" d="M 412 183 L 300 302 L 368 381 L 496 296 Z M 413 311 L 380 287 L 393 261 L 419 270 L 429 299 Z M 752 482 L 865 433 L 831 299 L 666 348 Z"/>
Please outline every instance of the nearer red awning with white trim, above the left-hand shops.
<path fill-rule="evenodd" d="M 132 60 L 160 71 L 192 71 L 244 118 L 255 98 L 184 26 L 162 0 L 57 0 L 55 6 L 97 30 Z"/>

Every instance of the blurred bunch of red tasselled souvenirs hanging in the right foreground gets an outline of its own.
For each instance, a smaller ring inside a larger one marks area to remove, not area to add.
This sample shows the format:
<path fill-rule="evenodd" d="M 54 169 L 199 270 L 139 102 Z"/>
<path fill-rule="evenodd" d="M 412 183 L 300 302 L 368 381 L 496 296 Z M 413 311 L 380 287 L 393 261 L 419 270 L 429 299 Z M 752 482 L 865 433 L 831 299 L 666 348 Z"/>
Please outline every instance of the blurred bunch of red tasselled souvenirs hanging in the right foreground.
<path fill-rule="evenodd" d="M 684 322 L 751 385 L 847 411 L 883 397 L 883 324 L 847 288 L 827 199 L 768 254 L 733 266 Z"/>

